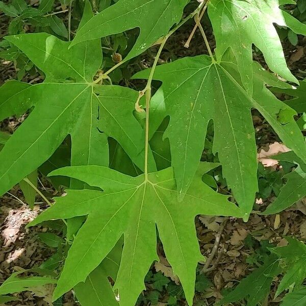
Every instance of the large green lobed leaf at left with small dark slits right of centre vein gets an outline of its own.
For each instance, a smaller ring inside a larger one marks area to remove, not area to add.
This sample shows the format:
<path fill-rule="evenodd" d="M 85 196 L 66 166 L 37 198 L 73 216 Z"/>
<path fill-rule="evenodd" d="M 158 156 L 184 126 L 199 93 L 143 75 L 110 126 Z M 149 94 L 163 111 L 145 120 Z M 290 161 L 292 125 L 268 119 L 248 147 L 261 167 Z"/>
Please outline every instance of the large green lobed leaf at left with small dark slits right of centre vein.
<path fill-rule="evenodd" d="M 81 26 L 91 16 L 87 2 Z M 71 165 L 108 166 L 107 138 L 113 137 L 143 168 L 144 132 L 133 115 L 138 92 L 93 83 L 102 60 L 99 39 L 70 49 L 69 42 L 46 33 L 6 39 L 45 72 L 45 81 L 33 86 L 12 81 L 0 88 L 0 120 L 34 106 L 0 153 L 0 160 L 5 161 L 0 165 L 0 194 L 45 162 L 68 134 Z M 155 171 L 151 152 L 149 159 Z"/>

